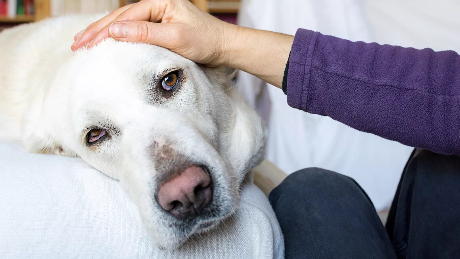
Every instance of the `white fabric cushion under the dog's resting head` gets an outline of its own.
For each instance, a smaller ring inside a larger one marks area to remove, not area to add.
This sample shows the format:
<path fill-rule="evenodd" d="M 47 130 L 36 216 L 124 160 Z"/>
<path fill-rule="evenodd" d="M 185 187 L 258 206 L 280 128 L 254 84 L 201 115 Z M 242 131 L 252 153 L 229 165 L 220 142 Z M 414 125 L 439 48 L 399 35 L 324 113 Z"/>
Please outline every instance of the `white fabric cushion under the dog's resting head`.
<path fill-rule="evenodd" d="M 78 158 L 28 153 L 0 141 L 0 258 L 283 258 L 265 195 L 242 189 L 236 215 L 167 252 L 154 247 L 118 181 Z"/>

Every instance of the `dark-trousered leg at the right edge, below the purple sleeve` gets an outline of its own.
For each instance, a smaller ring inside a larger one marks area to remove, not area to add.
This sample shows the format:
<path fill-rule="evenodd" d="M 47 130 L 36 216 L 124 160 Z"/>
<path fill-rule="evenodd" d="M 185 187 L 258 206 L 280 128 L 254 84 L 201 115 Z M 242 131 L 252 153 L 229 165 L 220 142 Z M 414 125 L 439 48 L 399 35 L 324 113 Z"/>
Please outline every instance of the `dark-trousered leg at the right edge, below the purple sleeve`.
<path fill-rule="evenodd" d="M 398 258 L 460 258 L 460 157 L 415 150 L 386 229 Z"/>

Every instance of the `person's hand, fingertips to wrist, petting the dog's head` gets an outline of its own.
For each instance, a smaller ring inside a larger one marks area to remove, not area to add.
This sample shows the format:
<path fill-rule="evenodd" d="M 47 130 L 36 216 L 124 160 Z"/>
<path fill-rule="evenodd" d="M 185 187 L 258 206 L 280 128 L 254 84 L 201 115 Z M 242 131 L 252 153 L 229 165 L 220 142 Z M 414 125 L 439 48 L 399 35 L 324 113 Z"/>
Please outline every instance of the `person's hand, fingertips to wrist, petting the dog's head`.
<path fill-rule="evenodd" d="M 235 25 L 201 11 L 188 0 L 142 0 L 123 6 L 75 35 L 72 50 L 105 38 L 158 45 L 201 64 L 222 65 Z"/>

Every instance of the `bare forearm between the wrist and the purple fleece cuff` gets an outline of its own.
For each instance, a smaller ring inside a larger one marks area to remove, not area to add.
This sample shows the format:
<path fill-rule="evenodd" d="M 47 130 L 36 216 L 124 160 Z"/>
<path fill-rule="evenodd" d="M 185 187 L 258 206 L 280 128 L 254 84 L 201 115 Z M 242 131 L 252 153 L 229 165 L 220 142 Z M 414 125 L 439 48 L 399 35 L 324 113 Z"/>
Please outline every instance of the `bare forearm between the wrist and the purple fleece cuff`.
<path fill-rule="evenodd" d="M 222 65 L 248 72 L 281 88 L 293 35 L 236 25 L 230 25 L 226 34 L 229 36 L 222 47 Z"/>

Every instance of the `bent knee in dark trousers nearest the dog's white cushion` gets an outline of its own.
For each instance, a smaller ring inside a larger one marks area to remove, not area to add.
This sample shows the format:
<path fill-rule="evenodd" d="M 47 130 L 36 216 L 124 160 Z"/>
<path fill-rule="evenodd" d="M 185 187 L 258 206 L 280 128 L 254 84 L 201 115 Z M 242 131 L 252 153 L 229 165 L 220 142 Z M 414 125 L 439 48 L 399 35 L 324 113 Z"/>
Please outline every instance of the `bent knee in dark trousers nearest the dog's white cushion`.
<path fill-rule="evenodd" d="M 319 168 L 289 175 L 270 193 L 286 259 L 396 258 L 372 202 L 350 177 Z"/>

